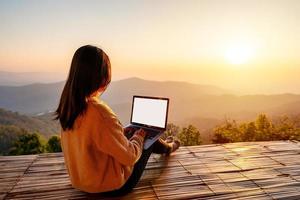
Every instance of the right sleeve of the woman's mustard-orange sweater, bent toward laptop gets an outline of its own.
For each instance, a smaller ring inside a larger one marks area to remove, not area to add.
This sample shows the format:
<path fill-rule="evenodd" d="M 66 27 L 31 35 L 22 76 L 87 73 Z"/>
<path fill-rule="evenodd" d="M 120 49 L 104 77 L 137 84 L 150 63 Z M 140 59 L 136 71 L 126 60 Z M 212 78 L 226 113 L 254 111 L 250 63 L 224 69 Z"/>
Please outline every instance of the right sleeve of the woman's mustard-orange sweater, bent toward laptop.
<path fill-rule="evenodd" d="M 115 116 L 101 119 L 100 141 L 95 141 L 98 149 L 114 157 L 126 166 L 134 165 L 140 158 L 144 138 L 134 134 L 129 140 L 124 136 L 124 130 Z"/>

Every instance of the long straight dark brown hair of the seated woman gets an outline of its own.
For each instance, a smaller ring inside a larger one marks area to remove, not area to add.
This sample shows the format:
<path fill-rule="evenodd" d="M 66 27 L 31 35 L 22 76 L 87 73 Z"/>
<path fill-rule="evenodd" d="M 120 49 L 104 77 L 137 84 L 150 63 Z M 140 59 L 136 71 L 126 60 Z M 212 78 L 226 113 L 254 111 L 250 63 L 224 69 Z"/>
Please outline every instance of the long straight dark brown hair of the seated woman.
<path fill-rule="evenodd" d="M 76 118 L 86 111 L 86 98 L 110 81 L 110 61 L 103 50 L 91 45 L 76 50 L 55 112 L 63 130 L 73 128 Z"/>

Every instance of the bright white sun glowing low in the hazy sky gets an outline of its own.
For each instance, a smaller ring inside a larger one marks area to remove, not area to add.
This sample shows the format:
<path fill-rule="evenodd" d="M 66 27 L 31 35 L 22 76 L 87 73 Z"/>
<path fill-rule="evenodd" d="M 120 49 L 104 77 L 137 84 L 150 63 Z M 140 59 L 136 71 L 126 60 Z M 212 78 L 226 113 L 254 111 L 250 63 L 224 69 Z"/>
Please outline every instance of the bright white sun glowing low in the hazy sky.
<path fill-rule="evenodd" d="M 236 44 L 231 45 L 225 53 L 225 58 L 233 65 L 247 63 L 254 54 L 254 48 L 251 45 Z"/>

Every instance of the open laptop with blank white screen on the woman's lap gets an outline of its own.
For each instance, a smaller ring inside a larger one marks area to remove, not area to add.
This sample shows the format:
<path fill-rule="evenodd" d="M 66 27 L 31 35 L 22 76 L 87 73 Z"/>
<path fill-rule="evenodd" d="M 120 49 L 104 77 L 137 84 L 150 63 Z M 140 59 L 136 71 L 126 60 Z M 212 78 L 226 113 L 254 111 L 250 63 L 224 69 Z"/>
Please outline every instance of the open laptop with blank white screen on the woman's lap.
<path fill-rule="evenodd" d="M 168 98 L 133 96 L 130 124 L 126 127 L 144 129 L 144 149 L 148 149 L 166 130 L 168 111 Z"/>

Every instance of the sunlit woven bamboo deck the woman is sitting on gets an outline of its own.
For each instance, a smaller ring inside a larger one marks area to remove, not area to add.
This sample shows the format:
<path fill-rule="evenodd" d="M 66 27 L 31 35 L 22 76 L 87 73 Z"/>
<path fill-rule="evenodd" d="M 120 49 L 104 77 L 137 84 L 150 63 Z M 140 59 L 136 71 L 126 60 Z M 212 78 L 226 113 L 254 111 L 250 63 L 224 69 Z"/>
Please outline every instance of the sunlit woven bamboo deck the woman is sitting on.
<path fill-rule="evenodd" d="M 73 189 L 61 153 L 0 157 L 0 199 L 105 199 Z M 119 198 L 116 198 L 119 199 Z M 152 155 L 122 199 L 300 199 L 300 143 L 181 147 Z"/>

